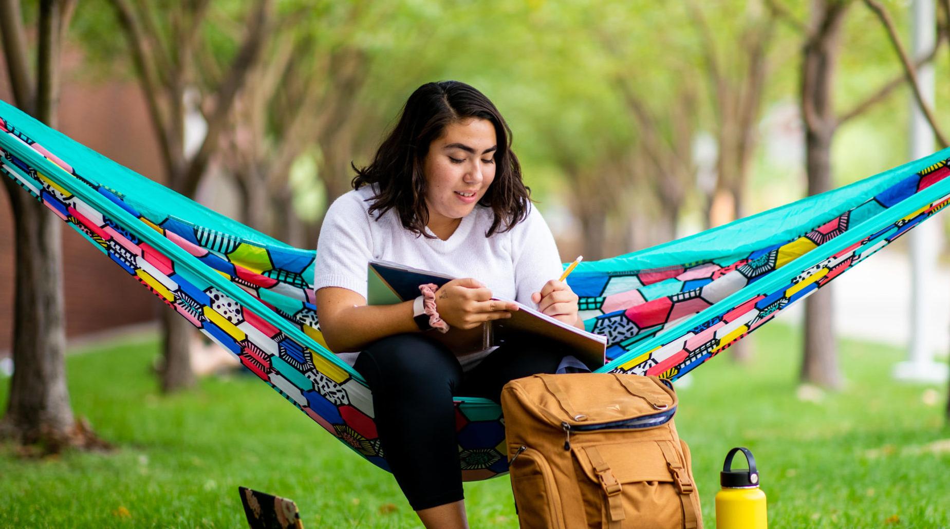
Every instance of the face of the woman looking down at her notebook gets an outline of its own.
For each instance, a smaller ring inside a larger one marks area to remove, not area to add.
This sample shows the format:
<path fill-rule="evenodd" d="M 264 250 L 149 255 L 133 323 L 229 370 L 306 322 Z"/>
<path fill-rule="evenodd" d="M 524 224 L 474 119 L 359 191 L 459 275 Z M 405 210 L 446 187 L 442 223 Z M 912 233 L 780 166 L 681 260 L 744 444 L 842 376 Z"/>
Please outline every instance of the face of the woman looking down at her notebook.
<path fill-rule="evenodd" d="M 430 225 L 450 225 L 471 213 L 495 179 L 495 126 L 470 118 L 450 123 L 431 142 L 423 164 Z"/>

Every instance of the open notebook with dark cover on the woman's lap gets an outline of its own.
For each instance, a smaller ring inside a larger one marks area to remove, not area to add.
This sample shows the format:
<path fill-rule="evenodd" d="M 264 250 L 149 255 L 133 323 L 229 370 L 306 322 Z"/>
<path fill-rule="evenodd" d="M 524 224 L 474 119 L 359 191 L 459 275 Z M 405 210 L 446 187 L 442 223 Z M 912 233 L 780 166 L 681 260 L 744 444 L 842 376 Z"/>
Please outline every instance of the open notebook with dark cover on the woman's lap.
<path fill-rule="evenodd" d="M 420 270 L 390 261 L 370 261 L 367 272 L 367 303 L 392 305 L 409 301 L 419 296 L 419 285 L 435 283 L 445 285 L 454 277 Z M 495 298 L 500 301 L 510 299 Z M 515 302 L 517 303 L 517 302 Z M 560 342 L 588 368 L 596 369 L 604 364 L 607 337 L 561 322 L 547 314 L 518 303 L 519 310 L 504 320 L 485 322 L 481 329 L 462 331 L 451 329 L 446 334 L 429 334 L 447 345 L 456 353 L 486 350 L 501 345 L 506 336 L 514 333 L 529 333 Z M 565 351 L 566 352 L 566 351 Z"/>

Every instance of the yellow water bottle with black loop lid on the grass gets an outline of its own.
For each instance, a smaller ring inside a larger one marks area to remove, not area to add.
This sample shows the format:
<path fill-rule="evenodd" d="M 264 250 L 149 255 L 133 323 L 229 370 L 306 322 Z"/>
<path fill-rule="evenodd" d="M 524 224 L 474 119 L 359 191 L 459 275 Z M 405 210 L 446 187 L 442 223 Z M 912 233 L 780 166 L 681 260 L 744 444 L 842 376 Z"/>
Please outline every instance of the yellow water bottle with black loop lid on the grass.
<path fill-rule="evenodd" d="M 749 469 L 732 470 L 732 457 L 742 450 Z M 759 471 L 748 448 L 732 448 L 719 474 L 722 489 L 715 495 L 716 529 L 766 529 L 766 493 L 759 488 Z"/>

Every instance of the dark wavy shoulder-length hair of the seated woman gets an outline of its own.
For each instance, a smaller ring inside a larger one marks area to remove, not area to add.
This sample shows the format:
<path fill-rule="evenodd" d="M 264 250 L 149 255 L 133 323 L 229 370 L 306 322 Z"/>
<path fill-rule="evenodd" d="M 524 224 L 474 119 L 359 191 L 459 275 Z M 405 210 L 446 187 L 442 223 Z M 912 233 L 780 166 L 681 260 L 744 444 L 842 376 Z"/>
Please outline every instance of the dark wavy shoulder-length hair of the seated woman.
<path fill-rule="evenodd" d="M 372 163 L 356 171 L 354 189 L 376 184 L 370 213 L 381 217 L 395 209 L 403 226 L 418 235 L 426 234 L 426 177 L 423 162 L 429 143 L 439 139 L 446 126 L 471 118 L 495 125 L 498 150 L 494 152 L 495 179 L 479 204 L 490 207 L 495 219 L 485 236 L 506 232 L 527 217 L 531 190 L 522 182 L 522 167 L 511 151 L 511 129 L 485 94 L 458 81 L 427 83 L 416 88 L 403 107 L 399 122 L 390 132 Z M 504 227 L 503 227 L 504 225 Z M 428 236 L 432 237 L 432 236 Z"/>

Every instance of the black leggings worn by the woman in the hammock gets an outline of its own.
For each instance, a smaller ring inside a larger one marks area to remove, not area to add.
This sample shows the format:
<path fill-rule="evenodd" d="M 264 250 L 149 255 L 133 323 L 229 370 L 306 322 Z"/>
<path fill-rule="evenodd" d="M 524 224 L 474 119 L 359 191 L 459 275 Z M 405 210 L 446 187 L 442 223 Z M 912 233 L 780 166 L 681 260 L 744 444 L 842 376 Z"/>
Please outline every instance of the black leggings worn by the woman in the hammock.
<path fill-rule="evenodd" d="M 553 373 L 565 353 L 546 341 L 506 341 L 463 372 L 442 344 L 425 334 L 373 342 L 354 368 L 372 390 L 383 454 L 413 510 L 464 498 L 453 395 L 499 402 L 509 380 Z"/>

